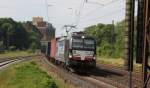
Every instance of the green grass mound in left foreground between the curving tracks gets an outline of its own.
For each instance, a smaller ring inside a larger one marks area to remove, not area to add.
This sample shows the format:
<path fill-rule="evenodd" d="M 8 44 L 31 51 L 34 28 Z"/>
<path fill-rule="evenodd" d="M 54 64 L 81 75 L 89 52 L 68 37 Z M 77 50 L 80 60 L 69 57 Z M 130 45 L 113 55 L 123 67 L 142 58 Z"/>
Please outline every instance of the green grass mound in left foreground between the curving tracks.
<path fill-rule="evenodd" d="M 0 72 L 0 88 L 58 88 L 34 61 L 21 62 Z"/>

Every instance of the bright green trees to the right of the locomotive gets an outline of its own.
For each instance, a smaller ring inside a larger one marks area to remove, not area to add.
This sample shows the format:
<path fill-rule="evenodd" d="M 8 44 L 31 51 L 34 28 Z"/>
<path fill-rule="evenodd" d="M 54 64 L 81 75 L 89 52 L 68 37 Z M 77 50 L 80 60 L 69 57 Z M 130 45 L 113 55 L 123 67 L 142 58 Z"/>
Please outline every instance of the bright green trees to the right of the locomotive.
<path fill-rule="evenodd" d="M 117 24 L 92 25 L 85 32 L 97 41 L 97 55 L 104 57 L 123 57 L 124 21 Z"/>

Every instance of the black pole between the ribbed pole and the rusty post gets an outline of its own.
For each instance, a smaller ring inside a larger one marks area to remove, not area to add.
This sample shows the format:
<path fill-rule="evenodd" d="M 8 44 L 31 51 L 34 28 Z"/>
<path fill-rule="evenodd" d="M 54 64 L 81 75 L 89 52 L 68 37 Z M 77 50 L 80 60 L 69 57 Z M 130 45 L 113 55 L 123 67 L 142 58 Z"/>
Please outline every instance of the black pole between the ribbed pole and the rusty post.
<path fill-rule="evenodd" d="M 142 64 L 144 36 L 144 0 L 138 0 L 136 63 Z"/>

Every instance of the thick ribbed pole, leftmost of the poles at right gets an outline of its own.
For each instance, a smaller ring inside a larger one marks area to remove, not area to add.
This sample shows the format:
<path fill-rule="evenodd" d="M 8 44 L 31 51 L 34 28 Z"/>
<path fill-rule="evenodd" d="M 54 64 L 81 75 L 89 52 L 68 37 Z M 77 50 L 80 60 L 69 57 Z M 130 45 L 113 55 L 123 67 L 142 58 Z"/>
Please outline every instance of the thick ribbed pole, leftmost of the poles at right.
<path fill-rule="evenodd" d="M 126 0 L 125 13 L 125 69 L 129 71 L 129 88 L 132 88 L 134 47 L 134 0 Z"/>

